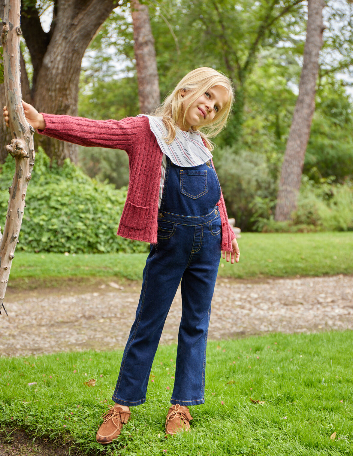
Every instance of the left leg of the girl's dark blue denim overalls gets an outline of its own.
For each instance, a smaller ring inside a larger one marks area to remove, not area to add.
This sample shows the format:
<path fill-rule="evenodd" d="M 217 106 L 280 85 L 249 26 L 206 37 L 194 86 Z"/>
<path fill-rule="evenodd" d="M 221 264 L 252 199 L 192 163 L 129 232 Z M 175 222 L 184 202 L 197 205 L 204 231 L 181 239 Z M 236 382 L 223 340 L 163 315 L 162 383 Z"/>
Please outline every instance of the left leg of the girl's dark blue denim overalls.
<path fill-rule="evenodd" d="M 167 255 L 161 245 L 151 246 L 136 318 L 128 337 L 113 401 L 134 405 L 146 401 L 148 378 L 165 319 L 178 289 L 185 264 L 183 255 Z"/>

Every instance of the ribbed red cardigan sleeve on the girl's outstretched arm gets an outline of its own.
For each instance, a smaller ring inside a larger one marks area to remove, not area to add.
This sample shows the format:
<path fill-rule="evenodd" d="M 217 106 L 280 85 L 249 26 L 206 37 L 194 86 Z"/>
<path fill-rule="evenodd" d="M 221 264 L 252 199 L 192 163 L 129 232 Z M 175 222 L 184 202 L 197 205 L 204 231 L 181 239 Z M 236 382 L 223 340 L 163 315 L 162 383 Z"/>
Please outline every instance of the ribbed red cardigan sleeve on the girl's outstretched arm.
<path fill-rule="evenodd" d="M 41 135 L 85 146 L 122 149 L 129 152 L 136 141 L 135 135 L 141 118 L 127 117 L 122 120 L 92 120 L 84 117 L 41 113 L 46 128 Z"/>

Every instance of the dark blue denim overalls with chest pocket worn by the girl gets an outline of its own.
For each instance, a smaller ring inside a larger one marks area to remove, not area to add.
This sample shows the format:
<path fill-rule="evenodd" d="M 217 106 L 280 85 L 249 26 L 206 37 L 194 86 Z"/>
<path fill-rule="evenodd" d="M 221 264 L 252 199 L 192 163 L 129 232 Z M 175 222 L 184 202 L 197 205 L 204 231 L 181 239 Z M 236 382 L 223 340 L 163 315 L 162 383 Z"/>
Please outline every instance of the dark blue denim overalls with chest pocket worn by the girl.
<path fill-rule="evenodd" d="M 211 161 L 183 168 L 167 157 L 158 214 L 158 243 L 151 244 L 142 291 L 113 400 L 139 405 L 146 390 L 164 321 L 181 280 L 172 404 L 205 402 L 205 355 L 211 300 L 220 262 L 220 183 Z"/>

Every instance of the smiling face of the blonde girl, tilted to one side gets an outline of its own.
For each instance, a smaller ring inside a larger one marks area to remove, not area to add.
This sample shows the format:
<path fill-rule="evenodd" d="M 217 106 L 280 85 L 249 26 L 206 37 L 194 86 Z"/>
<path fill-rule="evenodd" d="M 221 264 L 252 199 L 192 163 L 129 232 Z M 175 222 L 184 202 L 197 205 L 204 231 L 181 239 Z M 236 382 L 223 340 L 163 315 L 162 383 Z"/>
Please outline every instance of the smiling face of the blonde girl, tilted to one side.
<path fill-rule="evenodd" d="M 181 96 L 184 106 L 188 104 L 191 90 L 183 89 Z M 215 115 L 227 104 L 228 91 L 223 86 L 213 86 L 197 98 L 189 107 L 185 116 L 185 124 L 179 125 L 181 130 L 188 131 L 192 126 L 210 124 Z"/>

